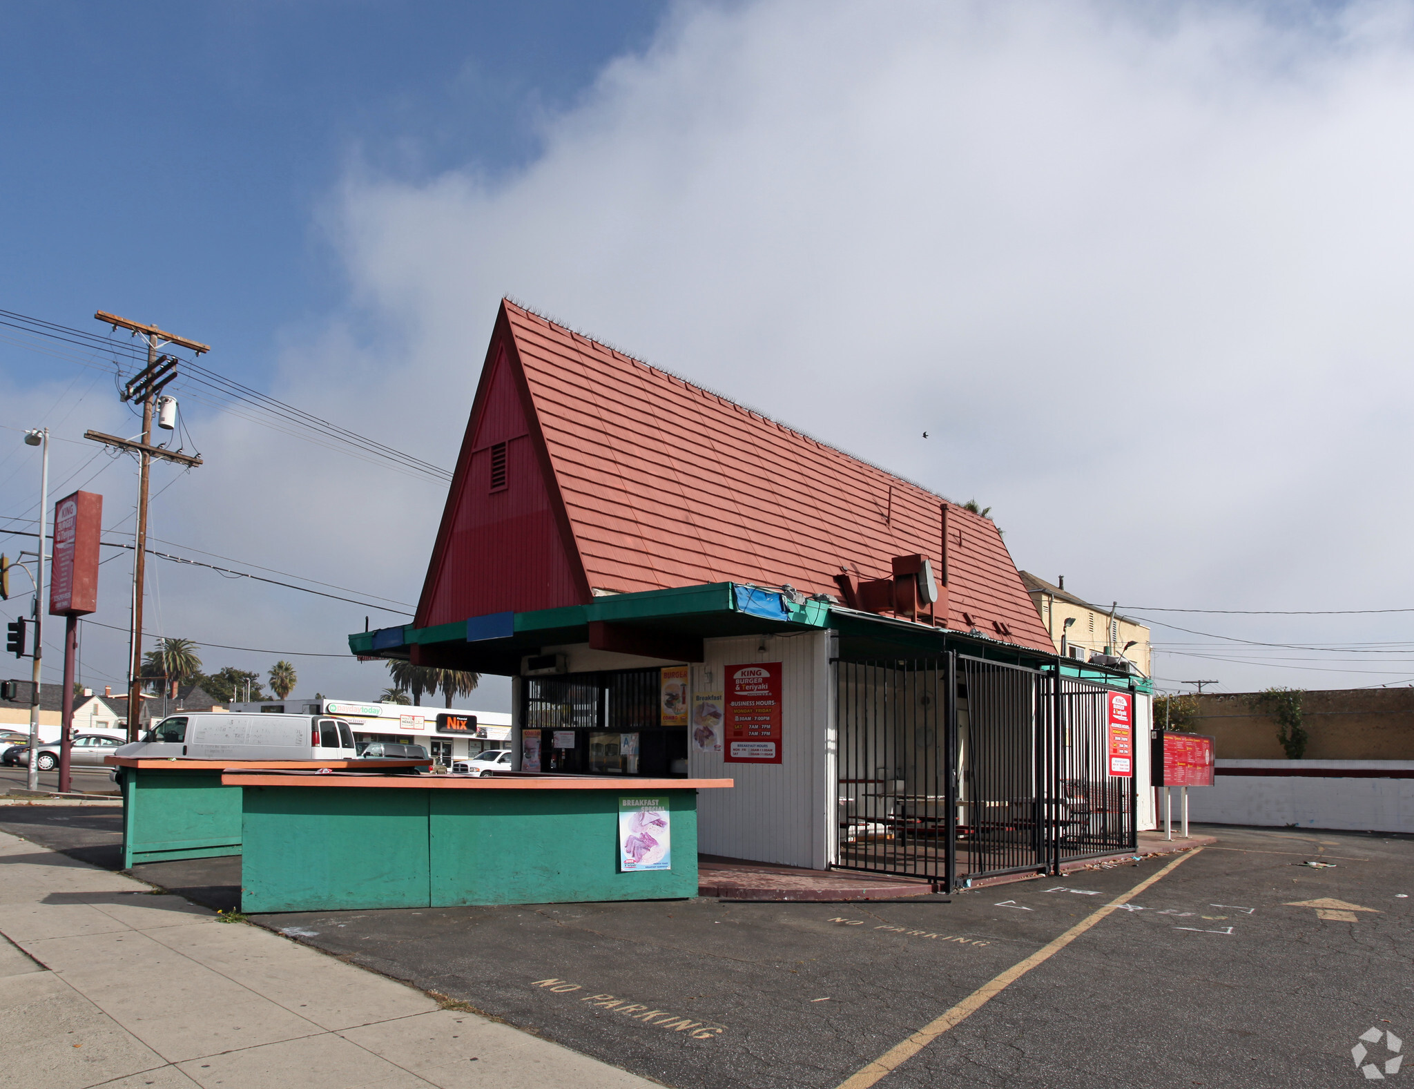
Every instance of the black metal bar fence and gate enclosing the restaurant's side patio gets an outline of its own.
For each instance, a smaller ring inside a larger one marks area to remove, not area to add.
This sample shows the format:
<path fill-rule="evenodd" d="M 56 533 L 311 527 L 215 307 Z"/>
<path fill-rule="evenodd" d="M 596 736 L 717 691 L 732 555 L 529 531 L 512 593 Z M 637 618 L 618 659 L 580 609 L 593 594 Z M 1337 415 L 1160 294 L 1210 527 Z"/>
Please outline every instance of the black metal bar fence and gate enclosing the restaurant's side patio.
<path fill-rule="evenodd" d="M 954 888 L 1135 846 L 1114 689 L 957 653 L 836 669 L 837 867 Z"/>

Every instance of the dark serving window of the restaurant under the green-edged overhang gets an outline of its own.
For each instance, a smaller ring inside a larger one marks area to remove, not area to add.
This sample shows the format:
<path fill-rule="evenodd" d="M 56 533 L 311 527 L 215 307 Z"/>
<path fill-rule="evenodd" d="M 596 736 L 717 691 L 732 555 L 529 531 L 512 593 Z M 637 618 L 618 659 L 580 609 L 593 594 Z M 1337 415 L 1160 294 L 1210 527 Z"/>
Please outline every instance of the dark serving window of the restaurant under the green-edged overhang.
<path fill-rule="evenodd" d="M 662 726 L 662 673 L 624 669 L 527 677 L 520 721 L 539 731 L 540 767 L 581 775 L 687 775 L 687 727 Z"/>

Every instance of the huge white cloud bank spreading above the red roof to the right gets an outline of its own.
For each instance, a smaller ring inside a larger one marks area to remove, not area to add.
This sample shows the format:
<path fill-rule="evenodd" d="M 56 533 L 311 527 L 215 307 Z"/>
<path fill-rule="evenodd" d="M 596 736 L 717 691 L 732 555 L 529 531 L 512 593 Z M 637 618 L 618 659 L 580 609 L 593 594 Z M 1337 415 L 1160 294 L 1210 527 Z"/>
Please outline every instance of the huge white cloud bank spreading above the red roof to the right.
<path fill-rule="evenodd" d="M 351 178 L 338 242 L 419 383 L 468 388 L 509 291 L 993 503 L 1018 563 L 1082 594 L 1410 604 L 1410 16 L 684 6 L 523 173 Z M 1193 670 L 1396 679 L 1159 672 Z"/>

